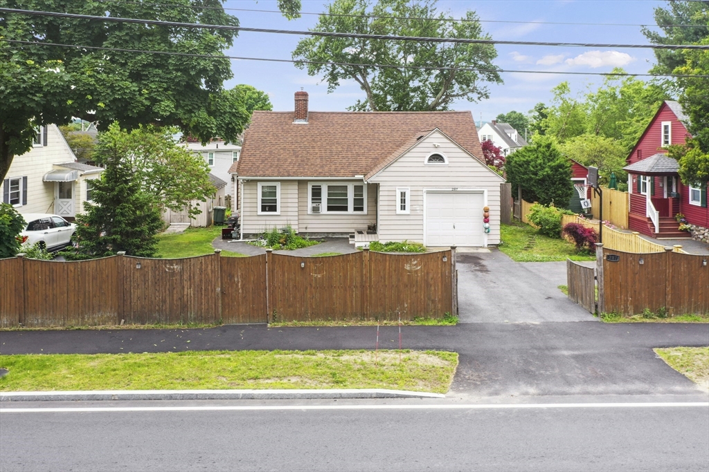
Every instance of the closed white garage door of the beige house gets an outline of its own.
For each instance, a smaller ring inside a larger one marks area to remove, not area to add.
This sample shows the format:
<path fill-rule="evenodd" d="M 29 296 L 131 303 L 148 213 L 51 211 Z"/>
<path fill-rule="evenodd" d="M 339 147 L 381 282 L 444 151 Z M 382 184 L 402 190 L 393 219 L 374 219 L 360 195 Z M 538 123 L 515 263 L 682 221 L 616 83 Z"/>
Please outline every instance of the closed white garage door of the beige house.
<path fill-rule="evenodd" d="M 481 192 L 427 192 L 426 246 L 483 246 Z"/>

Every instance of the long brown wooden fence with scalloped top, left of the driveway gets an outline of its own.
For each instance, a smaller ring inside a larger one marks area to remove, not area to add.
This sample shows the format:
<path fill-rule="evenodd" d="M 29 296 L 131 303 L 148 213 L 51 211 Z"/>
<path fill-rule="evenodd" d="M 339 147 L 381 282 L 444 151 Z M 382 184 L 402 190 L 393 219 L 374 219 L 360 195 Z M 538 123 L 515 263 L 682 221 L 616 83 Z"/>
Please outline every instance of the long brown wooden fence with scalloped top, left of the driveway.
<path fill-rule="evenodd" d="M 0 260 L 0 327 L 266 323 L 457 313 L 455 251 Z"/>

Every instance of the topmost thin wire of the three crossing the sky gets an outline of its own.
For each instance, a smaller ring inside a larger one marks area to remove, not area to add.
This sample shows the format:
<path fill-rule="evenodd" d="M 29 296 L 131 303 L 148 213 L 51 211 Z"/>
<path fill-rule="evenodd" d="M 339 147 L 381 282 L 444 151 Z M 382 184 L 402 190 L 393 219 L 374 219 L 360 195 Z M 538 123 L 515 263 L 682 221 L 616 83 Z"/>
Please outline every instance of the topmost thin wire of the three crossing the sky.
<path fill-rule="evenodd" d="M 223 10 L 223 11 L 247 11 L 254 13 L 279 13 L 280 10 L 259 10 L 256 8 L 228 8 L 221 6 L 198 6 L 198 5 L 178 5 L 178 4 L 147 4 L 140 1 L 128 0 L 99 0 L 105 4 L 133 4 L 143 6 L 167 6 L 170 8 L 193 8 L 200 10 Z M 423 18 L 416 16 L 384 16 L 384 15 L 356 15 L 354 13 L 313 13 L 311 11 L 298 11 L 299 15 L 311 16 L 334 16 L 342 18 L 375 18 L 382 20 L 416 20 L 416 21 L 455 21 L 459 23 L 513 23 L 518 25 L 577 25 L 577 26 L 657 26 L 659 28 L 707 28 L 707 25 L 654 25 L 642 23 L 569 23 L 564 21 L 510 21 L 510 20 L 469 20 L 467 18 Z M 690 18 L 684 18 L 690 19 Z"/>

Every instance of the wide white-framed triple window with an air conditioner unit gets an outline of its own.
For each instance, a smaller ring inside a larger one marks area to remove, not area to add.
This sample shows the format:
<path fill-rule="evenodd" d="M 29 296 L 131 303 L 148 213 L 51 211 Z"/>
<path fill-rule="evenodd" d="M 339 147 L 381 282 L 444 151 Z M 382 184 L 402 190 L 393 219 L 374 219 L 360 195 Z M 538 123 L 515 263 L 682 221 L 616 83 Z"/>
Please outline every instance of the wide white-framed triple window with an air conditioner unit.
<path fill-rule="evenodd" d="M 308 213 L 367 213 L 363 183 L 309 183 Z"/>

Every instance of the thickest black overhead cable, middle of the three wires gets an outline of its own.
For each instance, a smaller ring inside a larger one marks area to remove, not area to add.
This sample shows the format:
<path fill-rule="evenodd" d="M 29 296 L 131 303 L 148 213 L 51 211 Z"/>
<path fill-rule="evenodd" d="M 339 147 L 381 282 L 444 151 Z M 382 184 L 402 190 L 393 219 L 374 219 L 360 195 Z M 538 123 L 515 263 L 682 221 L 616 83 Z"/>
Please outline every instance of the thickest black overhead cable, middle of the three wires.
<path fill-rule="evenodd" d="M 120 18 L 114 16 L 79 15 L 76 13 L 60 13 L 58 11 L 20 10 L 17 8 L 0 8 L 0 13 L 18 13 L 32 16 L 52 16 L 58 18 L 73 18 L 78 20 L 110 21 L 114 23 L 139 23 L 142 25 L 173 26 L 177 28 L 200 28 L 207 30 L 246 31 L 249 33 L 275 33 L 281 35 L 317 36 L 323 38 L 357 38 L 368 40 L 393 40 L 415 42 L 450 42 L 454 44 L 485 44 L 485 45 L 524 45 L 524 46 L 562 46 L 562 47 L 608 47 L 619 49 L 664 49 L 664 50 L 709 50 L 709 45 L 625 45 L 593 42 L 546 42 L 546 41 L 504 41 L 480 40 L 469 38 L 428 38 L 416 36 L 368 35 L 360 33 L 329 33 L 324 31 L 294 31 L 272 30 L 269 28 L 245 28 L 232 25 L 206 25 L 202 23 L 179 23 L 176 21 L 143 20 L 140 18 Z"/>

